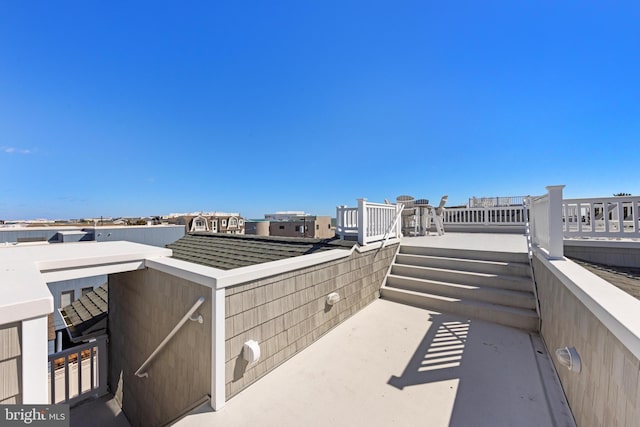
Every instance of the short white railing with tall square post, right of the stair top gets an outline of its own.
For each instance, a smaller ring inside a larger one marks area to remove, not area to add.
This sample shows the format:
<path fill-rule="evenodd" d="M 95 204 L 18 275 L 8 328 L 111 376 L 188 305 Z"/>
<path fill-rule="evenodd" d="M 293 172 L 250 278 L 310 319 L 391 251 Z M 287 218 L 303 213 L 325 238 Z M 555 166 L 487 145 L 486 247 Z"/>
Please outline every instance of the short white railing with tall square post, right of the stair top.
<path fill-rule="evenodd" d="M 534 246 L 544 249 L 550 259 L 562 258 L 562 189 L 564 185 L 547 187 L 547 194 L 531 197 L 529 221 Z"/>

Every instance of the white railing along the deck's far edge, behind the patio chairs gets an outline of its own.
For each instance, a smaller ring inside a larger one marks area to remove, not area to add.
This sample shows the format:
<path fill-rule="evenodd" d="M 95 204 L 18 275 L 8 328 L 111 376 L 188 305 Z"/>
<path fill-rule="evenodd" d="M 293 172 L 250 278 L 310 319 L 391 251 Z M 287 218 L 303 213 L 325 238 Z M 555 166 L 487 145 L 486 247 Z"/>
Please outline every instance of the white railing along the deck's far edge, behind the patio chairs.
<path fill-rule="evenodd" d="M 525 225 L 524 206 L 447 208 L 445 224 L 460 225 Z"/>

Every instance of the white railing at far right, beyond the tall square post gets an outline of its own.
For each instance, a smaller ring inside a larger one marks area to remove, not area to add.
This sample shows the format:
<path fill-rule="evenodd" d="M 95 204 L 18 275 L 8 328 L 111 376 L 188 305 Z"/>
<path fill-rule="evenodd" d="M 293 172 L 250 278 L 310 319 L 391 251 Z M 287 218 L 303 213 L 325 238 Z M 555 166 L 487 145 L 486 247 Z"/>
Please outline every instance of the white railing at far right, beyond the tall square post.
<path fill-rule="evenodd" d="M 640 197 L 567 199 L 562 203 L 565 237 L 640 237 Z"/>

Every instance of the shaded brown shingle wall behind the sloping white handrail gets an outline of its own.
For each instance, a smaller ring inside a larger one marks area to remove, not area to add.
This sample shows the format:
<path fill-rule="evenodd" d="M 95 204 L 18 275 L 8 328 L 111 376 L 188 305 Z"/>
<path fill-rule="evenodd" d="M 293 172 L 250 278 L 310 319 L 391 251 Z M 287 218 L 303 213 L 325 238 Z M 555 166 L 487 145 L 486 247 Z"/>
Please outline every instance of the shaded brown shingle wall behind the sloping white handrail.
<path fill-rule="evenodd" d="M 136 377 L 201 296 L 204 323 L 185 323 Z M 211 289 L 149 269 L 109 276 L 109 386 L 132 426 L 167 423 L 211 394 L 211 334 Z"/>

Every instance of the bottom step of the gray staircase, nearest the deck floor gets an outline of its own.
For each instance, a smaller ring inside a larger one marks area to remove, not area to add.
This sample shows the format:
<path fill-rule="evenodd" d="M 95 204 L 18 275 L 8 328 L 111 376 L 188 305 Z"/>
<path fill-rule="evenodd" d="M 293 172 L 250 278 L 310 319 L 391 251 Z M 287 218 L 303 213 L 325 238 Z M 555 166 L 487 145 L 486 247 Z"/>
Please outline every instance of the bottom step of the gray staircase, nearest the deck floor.
<path fill-rule="evenodd" d="M 426 294 L 388 286 L 383 286 L 380 289 L 380 293 L 387 300 L 414 307 L 459 314 L 527 331 L 538 330 L 538 315 L 535 310 L 505 307 L 486 302 Z"/>

